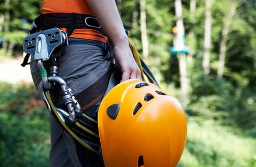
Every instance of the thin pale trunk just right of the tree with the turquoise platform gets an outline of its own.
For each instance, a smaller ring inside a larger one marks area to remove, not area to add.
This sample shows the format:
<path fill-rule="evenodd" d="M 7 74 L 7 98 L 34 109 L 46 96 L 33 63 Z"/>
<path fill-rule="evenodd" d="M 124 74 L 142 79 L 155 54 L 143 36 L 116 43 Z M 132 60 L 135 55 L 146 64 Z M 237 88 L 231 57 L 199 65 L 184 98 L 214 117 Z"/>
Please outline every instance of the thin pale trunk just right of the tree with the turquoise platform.
<path fill-rule="evenodd" d="M 196 0 L 190 0 L 189 21 L 191 24 L 195 23 L 195 12 L 196 12 Z M 189 53 L 187 56 L 187 62 L 188 62 L 188 64 L 191 64 L 192 60 L 193 60 L 192 55 L 194 53 L 194 48 L 195 48 L 195 43 L 196 43 L 193 28 L 190 29 L 188 37 L 189 37 Z"/>

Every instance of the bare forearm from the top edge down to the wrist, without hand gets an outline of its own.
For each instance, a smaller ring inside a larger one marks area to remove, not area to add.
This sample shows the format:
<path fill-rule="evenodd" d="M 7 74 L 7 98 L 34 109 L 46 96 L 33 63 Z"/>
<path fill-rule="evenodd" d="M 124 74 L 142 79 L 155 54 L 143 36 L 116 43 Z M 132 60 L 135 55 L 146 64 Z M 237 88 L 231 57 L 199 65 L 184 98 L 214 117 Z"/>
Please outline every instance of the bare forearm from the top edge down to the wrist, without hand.
<path fill-rule="evenodd" d="M 128 45 L 115 0 L 86 0 L 86 2 L 114 46 L 120 45 L 120 43 Z"/>

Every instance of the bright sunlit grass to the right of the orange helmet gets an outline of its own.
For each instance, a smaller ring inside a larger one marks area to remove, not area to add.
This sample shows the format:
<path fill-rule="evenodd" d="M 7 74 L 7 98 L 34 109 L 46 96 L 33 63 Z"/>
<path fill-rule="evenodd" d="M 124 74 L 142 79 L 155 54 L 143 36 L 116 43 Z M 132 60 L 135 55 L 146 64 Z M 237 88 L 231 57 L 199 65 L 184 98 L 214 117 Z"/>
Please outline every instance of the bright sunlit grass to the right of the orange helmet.
<path fill-rule="evenodd" d="M 256 139 L 213 120 L 188 119 L 179 167 L 255 167 Z"/>

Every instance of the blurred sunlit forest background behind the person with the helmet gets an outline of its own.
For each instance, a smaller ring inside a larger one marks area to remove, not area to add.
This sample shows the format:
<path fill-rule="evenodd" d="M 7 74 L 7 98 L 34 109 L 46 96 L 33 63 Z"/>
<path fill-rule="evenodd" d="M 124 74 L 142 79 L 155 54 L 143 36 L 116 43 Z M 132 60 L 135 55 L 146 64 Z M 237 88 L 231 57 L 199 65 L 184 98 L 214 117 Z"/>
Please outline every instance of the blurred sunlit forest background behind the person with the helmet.
<path fill-rule="evenodd" d="M 174 0 L 116 3 L 162 89 L 185 109 L 188 135 L 177 166 L 256 167 L 256 1 L 182 0 L 176 17 Z M 0 0 L 0 68 L 21 60 L 40 7 L 41 0 Z M 186 55 L 169 52 L 177 19 Z M 1 68 L 0 76 L 15 69 Z M 31 82 L 0 79 L 1 166 L 48 166 L 48 111 Z"/>

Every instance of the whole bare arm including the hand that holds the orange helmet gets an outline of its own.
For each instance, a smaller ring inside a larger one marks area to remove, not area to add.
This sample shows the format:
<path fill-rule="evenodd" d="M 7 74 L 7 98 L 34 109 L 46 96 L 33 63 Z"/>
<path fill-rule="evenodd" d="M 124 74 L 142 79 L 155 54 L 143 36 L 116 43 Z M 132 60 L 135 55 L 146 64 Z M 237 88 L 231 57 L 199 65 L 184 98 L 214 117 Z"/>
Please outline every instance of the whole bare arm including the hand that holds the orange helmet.
<path fill-rule="evenodd" d="M 141 71 L 133 58 L 115 0 L 86 2 L 114 44 L 115 63 L 122 71 L 121 82 L 131 78 L 141 79 Z"/>

